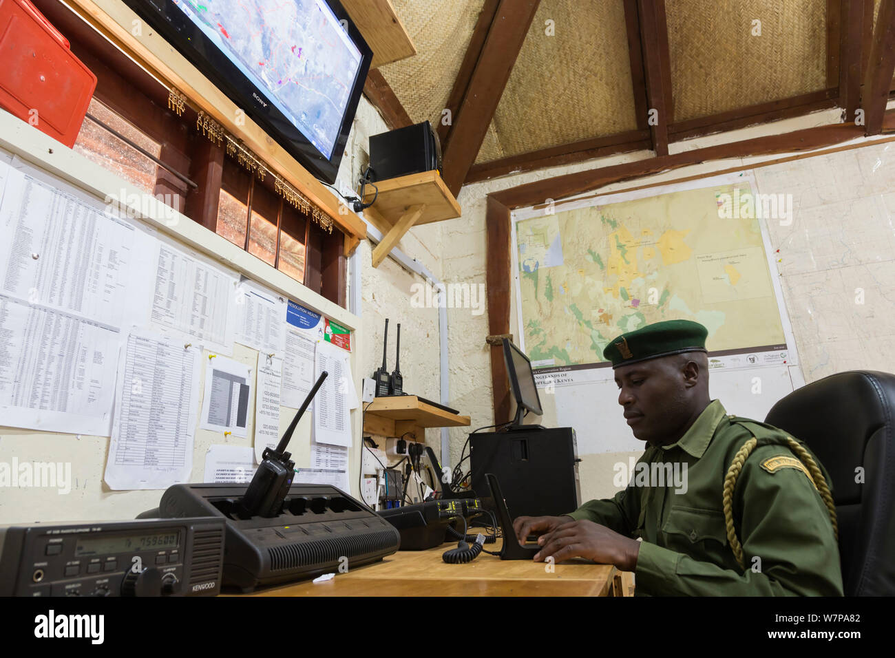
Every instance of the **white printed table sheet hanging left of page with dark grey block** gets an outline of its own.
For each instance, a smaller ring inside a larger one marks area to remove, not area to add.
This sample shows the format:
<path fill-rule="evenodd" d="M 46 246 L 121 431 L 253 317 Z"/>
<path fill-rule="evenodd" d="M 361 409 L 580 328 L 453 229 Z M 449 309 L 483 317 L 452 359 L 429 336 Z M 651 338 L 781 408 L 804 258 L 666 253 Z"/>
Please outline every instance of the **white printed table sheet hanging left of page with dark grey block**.
<path fill-rule="evenodd" d="M 200 351 L 132 330 L 118 366 L 105 480 L 114 490 L 190 481 Z"/>

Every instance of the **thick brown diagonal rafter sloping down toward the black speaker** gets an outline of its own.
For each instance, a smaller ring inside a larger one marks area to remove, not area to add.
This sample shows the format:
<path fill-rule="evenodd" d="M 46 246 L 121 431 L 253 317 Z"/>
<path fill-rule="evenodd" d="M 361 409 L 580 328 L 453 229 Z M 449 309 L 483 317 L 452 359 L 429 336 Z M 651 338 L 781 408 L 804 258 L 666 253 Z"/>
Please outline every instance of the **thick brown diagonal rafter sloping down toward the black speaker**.
<path fill-rule="evenodd" d="M 540 0 L 500 0 L 443 148 L 442 177 L 456 196 L 473 166 Z"/>

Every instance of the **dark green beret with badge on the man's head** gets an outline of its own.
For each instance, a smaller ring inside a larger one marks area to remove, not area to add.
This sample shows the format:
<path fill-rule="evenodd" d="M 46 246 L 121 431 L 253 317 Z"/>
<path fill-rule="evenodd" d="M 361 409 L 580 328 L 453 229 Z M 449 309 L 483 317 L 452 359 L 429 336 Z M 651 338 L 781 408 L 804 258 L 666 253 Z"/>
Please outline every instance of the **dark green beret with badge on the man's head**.
<path fill-rule="evenodd" d="M 603 358 L 611 361 L 615 369 L 659 356 L 705 352 L 708 335 L 708 329 L 691 320 L 655 322 L 610 340 L 603 350 Z"/>

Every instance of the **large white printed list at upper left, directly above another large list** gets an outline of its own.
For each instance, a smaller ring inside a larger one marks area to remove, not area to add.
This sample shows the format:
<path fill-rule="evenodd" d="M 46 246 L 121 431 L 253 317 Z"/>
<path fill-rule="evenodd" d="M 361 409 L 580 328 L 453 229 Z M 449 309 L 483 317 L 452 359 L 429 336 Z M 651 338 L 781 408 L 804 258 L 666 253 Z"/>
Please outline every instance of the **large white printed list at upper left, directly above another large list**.
<path fill-rule="evenodd" d="M 0 292 L 123 328 L 149 300 L 148 236 L 16 159 L 0 204 Z M 152 240 L 155 243 L 155 240 Z"/>

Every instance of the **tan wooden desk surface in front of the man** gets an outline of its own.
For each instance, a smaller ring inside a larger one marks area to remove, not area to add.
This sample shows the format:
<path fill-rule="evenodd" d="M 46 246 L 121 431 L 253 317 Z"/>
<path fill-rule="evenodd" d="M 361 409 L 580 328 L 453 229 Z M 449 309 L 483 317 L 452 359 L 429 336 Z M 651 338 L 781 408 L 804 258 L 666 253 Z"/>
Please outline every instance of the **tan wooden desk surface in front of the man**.
<path fill-rule="evenodd" d="M 380 562 L 349 569 L 323 583 L 303 581 L 248 596 L 609 596 L 618 575 L 611 565 L 569 560 L 500 560 L 482 553 L 466 564 L 447 564 L 441 554 L 456 543 L 428 551 L 398 551 Z M 485 544 L 498 551 L 497 543 Z M 618 585 L 617 585 L 618 586 Z M 620 595 L 620 593 L 618 593 Z"/>

